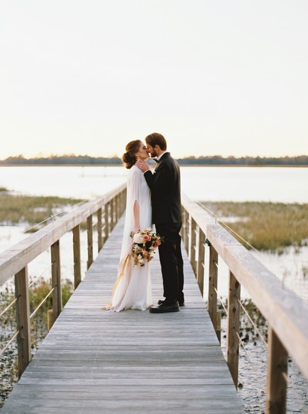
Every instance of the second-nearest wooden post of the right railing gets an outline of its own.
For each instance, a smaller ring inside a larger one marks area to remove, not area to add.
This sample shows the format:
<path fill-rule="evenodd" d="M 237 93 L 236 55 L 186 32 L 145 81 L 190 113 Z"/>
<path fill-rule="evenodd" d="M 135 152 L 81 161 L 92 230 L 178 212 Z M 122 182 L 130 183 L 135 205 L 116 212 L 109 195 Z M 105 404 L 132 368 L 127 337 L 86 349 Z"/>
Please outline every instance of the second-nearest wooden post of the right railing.
<path fill-rule="evenodd" d="M 239 370 L 239 333 L 240 333 L 240 311 L 238 302 L 241 295 L 241 285 L 234 274 L 229 271 L 229 294 L 227 314 L 227 344 L 226 359 L 236 389 L 238 388 Z"/>

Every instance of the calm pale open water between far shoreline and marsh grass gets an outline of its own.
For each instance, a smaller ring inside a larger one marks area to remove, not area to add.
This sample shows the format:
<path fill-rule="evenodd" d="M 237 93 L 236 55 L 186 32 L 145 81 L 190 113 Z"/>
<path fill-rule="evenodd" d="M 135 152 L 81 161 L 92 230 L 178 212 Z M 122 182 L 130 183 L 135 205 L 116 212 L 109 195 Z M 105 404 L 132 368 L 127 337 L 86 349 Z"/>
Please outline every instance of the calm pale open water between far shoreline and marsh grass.
<path fill-rule="evenodd" d="M 98 197 L 126 181 L 124 167 L 0 167 L 0 186 L 31 195 Z M 194 200 L 308 202 L 308 168 L 181 167 Z"/>

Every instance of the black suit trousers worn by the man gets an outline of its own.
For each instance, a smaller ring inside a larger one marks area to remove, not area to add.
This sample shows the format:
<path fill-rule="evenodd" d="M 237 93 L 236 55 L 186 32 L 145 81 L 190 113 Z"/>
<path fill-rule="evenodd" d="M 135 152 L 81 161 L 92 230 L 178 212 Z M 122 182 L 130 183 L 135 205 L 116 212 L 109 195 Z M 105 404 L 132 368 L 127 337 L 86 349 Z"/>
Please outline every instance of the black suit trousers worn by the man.
<path fill-rule="evenodd" d="M 158 247 L 159 259 L 162 269 L 164 296 L 166 304 L 176 300 L 184 301 L 183 285 L 183 258 L 181 253 L 182 223 L 155 224 L 156 232 L 164 237 L 163 243 Z"/>

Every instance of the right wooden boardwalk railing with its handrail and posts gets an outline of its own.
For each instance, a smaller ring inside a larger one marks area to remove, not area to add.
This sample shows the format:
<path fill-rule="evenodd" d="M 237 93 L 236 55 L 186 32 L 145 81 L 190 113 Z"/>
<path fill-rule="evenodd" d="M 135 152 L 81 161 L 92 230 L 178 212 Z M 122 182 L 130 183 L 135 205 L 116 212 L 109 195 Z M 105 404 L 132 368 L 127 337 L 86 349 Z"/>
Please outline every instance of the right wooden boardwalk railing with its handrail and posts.
<path fill-rule="evenodd" d="M 226 362 L 238 385 L 240 289 L 245 288 L 268 322 L 266 413 L 281 414 L 286 407 L 287 355 L 308 379 L 308 306 L 266 269 L 200 205 L 182 194 L 182 239 L 203 295 L 208 275 L 207 308 L 216 331 L 218 257 L 229 268 Z M 209 248 L 208 248 L 209 246 Z M 205 270 L 205 250 L 209 269 Z"/>

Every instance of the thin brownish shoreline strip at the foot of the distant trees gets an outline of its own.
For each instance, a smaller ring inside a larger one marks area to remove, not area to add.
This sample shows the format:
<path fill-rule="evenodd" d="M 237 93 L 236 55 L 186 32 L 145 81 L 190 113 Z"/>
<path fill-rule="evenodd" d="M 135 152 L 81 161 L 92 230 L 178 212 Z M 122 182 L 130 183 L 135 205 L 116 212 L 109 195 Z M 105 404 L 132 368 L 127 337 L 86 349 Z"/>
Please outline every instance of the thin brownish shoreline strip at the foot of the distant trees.
<path fill-rule="evenodd" d="M 279 167 L 279 168 L 307 168 L 303 164 L 180 164 L 180 167 Z M 123 167 L 121 164 L 0 164 L 0 167 Z"/>

